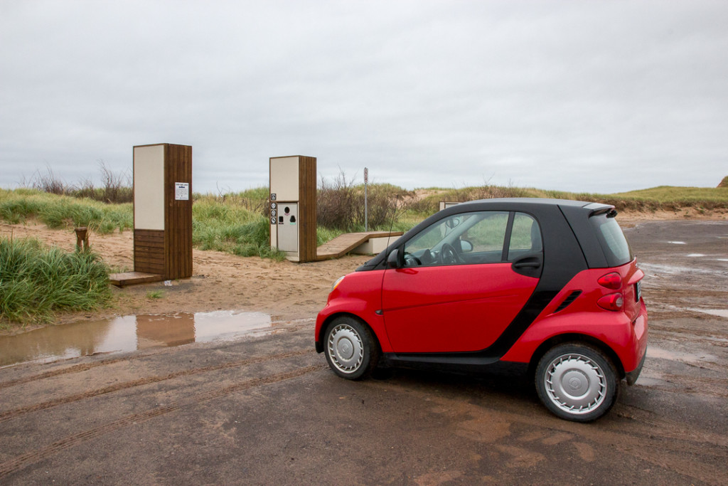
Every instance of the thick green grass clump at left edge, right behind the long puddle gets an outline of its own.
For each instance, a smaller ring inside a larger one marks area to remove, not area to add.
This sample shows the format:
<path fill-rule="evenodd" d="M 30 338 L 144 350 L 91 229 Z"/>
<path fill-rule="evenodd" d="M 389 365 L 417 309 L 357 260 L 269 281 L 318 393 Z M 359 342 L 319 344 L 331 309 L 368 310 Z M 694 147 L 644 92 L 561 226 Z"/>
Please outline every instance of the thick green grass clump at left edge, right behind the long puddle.
<path fill-rule="evenodd" d="M 97 254 L 0 238 L 0 323 L 47 322 L 57 310 L 92 310 L 110 298 L 108 267 Z"/>

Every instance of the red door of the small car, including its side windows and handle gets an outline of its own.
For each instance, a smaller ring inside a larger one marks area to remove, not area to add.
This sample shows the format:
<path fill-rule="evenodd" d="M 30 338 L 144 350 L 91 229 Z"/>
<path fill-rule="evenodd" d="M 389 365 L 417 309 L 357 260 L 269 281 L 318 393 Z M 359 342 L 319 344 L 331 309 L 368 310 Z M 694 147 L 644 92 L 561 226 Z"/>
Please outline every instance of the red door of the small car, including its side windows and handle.
<path fill-rule="evenodd" d="M 442 219 L 399 251 L 401 266 L 385 270 L 382 281 L 395 353 L 488 348 L 533 293 L 542 264 L 536 220 L 507 211 Z"/>

